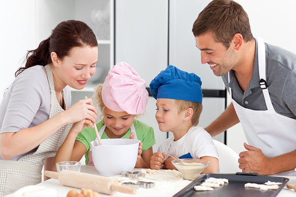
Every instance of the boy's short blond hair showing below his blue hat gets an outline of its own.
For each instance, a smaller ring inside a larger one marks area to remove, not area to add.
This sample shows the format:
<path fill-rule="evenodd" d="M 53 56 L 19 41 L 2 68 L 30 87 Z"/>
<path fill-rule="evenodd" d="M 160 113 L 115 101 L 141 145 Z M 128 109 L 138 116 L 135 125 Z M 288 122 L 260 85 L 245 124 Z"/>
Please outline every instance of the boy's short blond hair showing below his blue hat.
<path fill-rule="evenodd" d="M 178 100 L 178 99 L 173 99 L 175 100 L 175 104 L 178 108 L 178 113 L 180 114 L 182 111 L 188 108 L 193 109 L 193 115 L 191 118 L 191 123 L 193 126 L 197 126 L 199 122 L 199 118 L 202 112 L 202 103 L 200 102 L 193 102 L 193 101 L 188 101 L 188 100 Z"/>

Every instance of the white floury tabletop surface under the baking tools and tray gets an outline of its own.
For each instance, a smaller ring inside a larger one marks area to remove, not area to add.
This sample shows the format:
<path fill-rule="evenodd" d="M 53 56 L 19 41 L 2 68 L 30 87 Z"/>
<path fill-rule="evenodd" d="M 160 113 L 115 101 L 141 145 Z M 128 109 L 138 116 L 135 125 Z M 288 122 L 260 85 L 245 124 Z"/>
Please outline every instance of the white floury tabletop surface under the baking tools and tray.
<path fill-rule="evenodd" d="M 137 168 L 135 170 L 138 171 Z M 81 172 L 84 173 L 90 173 L 95 175 L 100 175 L 100 173 L 96 170 L 94 166 L 89 165 L 82 165 L 81 166 Z M 296 177 L 294 176 L 285 176 L 289 178 L 288 184 L 296 184 Z M 173 181 L 173 182 L 156 182 L 154 188 L 145 189 L 145 188 L 139 188 L 137 189 L 136 195 L 129 195 L 129 194 L 123 194 L 123 193 L 115 193 L 112 195 L 112 197 L 172 197 L 176 193 L 178 193 L 180 190 L 182 190 L 185 186 L 187 186 L 189 183 L 191 183 L 188 180 L 182 180 L 182 181 Z M 78 193 L 80 193 L 80 189 L 72 188 L 68 186 L 63 186 L 59 183 L 57 179 L 49 179 L 46 181 L 43 181 L 42 183 L 37 184 L 37 186 L 43 186 L 48 189 L 53 188 L 57 191 L 56 197 L 66 197 L 67 193 L 70 190 L 76 190 Z M 106 194 L 100 194 L 101 197 L 110 197 L 110 195 Z M 277 195 L 277 197 L 295 197 L 296 192 L 294 190 L 290 190 L 288 188 L 282 189 L 280 193 Z M 15 195 L 11 194 L 6 197 L 16 197 Z"/>

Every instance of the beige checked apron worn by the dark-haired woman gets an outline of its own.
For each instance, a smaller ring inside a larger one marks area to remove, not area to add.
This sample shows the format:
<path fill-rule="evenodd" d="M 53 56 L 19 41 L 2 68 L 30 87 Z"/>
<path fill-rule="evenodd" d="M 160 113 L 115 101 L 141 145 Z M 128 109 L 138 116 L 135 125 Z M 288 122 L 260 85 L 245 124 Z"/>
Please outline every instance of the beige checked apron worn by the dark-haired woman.
<path fill-rule="evenodd" d="M 63 112 L 64 109 L 60 106 L 56 98 L 52 70 L 49 65 L 44 67 L 46 69 L 51 93 L 49 112 L 49 118 L 51 118 Z M 65 109 L 66 108 L 65 103 Z M 56 155 L 59 147 L 68 135 L 71 126 L 72 124 L 63 126 L 43 141 L 38 146 L 36 152 L 25 155 L 18 161 L 0 160 L 0 197 L 13 193 L 24 186 L 36 185 L 41 182 L 41 171 L 45 158 L 54 157 Z"/>

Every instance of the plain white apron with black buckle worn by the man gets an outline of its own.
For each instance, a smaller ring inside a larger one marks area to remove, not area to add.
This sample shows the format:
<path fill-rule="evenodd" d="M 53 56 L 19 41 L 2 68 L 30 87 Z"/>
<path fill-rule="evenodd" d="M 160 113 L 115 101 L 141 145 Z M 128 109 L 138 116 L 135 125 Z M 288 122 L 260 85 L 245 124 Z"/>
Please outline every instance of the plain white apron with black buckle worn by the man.
<path fill-rule="evenodd" d="M 267 158 L 277 157 L 296 150 L 296 120 L 276 113 L 266 86 L 265 44 L 258 38 L 258 62 L 260 87 L 266 111 L 251 110 L 240 106 L 232 99 L 235 112 L 242 124 L 248 143 L 261 149 Z M 265 80 L 265 81 L 264 81 Z M 229 82 L 228 73 L 228 82 Z M 232 98 L 231 89 L 229 93 Z M 296 176 L 294 170 L 279 175 Z"/>

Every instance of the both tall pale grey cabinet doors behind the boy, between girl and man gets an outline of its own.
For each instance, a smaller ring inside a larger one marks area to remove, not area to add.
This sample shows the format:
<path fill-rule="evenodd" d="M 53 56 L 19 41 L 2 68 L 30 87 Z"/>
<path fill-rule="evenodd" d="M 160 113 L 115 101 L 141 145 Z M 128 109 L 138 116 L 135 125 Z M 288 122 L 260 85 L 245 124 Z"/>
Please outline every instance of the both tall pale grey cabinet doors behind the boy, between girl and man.
<path fill-rule="evenodd" d="M 115 0 L 115 62 L 125 61 L 150 81 L 168 65 L 194 72 L 203 81 L 202 88 L 221 91 L 221 78 L 201 66 L 200 55 L 191 33 L 192 24 L 207 1 L 197 0 Z M 199 126 L 206 127 L 225 109 L 225 96 L 204 98 Z M 161 132 L 155 120 L 156 100 L 152 97 L 146 107 L 143 122 L 154 128 L 159 145 L 172 133 Z M 224 134 L 215 139 L 224 142 Z"/>

